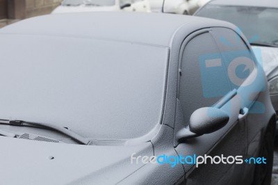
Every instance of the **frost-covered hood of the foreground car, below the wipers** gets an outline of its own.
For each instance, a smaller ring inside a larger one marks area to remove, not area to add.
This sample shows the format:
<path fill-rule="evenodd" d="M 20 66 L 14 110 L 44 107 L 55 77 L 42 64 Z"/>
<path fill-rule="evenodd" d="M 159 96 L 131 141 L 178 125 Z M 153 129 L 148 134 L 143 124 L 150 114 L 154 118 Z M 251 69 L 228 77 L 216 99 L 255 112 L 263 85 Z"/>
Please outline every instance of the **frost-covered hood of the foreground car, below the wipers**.
<path fill-rule="evenodd" d="M 116 184 L 143 166 L 131 165 L 132 153 L 154 154 L 151 143 L 87 146 L 0 136 L 0 146 L 1 184 Z"/>

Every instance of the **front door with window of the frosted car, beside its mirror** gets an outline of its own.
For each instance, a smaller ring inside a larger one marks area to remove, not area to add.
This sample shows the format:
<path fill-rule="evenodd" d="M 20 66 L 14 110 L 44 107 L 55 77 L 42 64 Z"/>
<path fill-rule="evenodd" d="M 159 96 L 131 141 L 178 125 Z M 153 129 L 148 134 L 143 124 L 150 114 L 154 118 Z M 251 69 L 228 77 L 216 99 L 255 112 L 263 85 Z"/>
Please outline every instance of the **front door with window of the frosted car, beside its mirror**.
<path fill-rule="evenodd" d="M 245 118 L 252 104 L 245 101 L 251 88 L 243 89 L 243 83 L 250 81 L 254 70 L 253 66 L 249 73 L 245 72 L 242 59 L 248 63 L 254 58 L 240 35 L 230 29 L 197 31 L 186 38 L 181 47 L 175 131 L 188 126 L 190 115 L 202 107 L 222 109 L 229 114 L 229 122 L 211 134 L 176 143 L 177 153 L 183 156 L 206 154 L 221 160 L 231 156 L 229 161 L 225 159 L 226 163 L 219 160 L 211 163 L 210 159 L 198 167 L 185 163 L 187 184 L 236 184 L 242 180 L 247 153 Z M 236 156 L 240 164 L 236 164 Z"/>

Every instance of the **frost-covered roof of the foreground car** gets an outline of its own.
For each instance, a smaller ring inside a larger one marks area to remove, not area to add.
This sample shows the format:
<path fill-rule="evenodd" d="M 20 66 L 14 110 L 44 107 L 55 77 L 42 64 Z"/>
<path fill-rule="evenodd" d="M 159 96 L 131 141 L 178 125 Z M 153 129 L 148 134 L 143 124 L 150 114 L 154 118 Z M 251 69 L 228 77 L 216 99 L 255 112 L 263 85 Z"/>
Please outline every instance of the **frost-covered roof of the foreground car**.
<path fill-rule="evenodd" d="M 220 20 L 163 13 L 61 13 L 25 19 L 0 29 L 0 34 L 92 38 L 170 47 L 179 29 L 188 34 L 200 28 L 233 24 Z M 186 33 L 184 33 L 186 34 Z"/>

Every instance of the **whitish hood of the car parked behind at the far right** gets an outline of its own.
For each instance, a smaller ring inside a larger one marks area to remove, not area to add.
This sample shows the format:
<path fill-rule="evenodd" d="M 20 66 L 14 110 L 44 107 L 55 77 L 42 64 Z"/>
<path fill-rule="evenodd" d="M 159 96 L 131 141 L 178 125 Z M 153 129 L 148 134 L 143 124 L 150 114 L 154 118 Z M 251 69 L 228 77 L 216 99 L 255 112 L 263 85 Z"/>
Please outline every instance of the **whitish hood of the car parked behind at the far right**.
<path fill-rule="evenodd" d="M 252 47 L 253 49 L 261 49 L 263 59 L 263 69 L 268 79 L 278 75 L 278 48 L 275 47 Z M 258 52 L 255 52 L 257 55 Z M 260 56 L 256 56 L 261 58 Z"/>

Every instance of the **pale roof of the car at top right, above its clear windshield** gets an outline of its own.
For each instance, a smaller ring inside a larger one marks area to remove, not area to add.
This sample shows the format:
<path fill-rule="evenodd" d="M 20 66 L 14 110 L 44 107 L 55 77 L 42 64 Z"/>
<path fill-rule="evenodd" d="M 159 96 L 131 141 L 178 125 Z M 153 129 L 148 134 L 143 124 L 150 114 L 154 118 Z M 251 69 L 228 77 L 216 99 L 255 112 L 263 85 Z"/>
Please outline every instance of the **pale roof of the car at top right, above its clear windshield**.
<path fill-rule="evenodd" d="M 224 6 L 256 6 L 278 8 L 277 0 L 213 0 L 209 4 Z"/>

